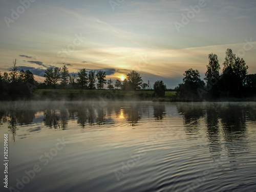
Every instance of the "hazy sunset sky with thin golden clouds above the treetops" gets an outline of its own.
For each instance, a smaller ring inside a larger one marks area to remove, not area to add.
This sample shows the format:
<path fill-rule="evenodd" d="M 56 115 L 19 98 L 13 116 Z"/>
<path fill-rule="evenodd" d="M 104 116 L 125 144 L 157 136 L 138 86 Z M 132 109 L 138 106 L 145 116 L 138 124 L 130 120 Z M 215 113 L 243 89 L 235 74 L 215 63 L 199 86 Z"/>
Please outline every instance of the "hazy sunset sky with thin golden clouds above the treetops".
<path fill-rule="evenodd" d="M 175 88 L 187 69 L 204 78 L 210 53 L 223 67 L 228 48 L 256 73 L 256 1 L 0 0 L 0 17 L 2 74 L 16 58 L 37 81 L 66 65 Z"/>

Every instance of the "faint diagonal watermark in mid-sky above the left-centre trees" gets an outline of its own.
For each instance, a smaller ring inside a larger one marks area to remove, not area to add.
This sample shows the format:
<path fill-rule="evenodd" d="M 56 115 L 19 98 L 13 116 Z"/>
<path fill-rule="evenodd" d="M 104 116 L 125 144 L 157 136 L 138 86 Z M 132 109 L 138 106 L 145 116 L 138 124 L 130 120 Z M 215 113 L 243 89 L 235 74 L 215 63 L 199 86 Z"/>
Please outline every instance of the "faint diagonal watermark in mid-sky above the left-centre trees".
<path fill-rule="evenodd" d="M 75 37 L 76 38 L 74 38 L 72 44 L 69 44 L 67 48 L 63 48 L 61 51 L 58 51 L 57 57 L 61 58 L 61 61 L 65 61 L 67 56 L 74 52 L 76 47 L 80 46 L 86 39 L 86 37 L 82 36 L 82 33 L 80 33 L 80 35 L 75 34 Z"/>

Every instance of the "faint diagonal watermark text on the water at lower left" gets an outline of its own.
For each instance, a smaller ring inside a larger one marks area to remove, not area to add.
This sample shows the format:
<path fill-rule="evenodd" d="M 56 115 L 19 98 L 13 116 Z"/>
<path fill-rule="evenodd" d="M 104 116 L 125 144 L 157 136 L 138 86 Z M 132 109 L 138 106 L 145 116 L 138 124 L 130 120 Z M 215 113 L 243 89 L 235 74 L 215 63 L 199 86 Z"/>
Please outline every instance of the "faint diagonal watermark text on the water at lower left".
<path fill-rule="evenodd" d="M 51 148 L 49 150 L 49 152 L 45 152 L 44 154 L 42 154 L 38 160 L 43 163 L 44 166 L 46 166 L 50 160 L 52 160 L 57 154 L 58 151 L 61 151 L 63 149 L 63 147 L 66 146 L 66 142 L 64 140 L 64 137 L 61 139 L 57 139 L 57 143 L 55 144 L 55 147 Z M 16 188 L 10 186 L 9 190 L 11 192 L 19 192 L 20 190 L 25 188 L 25 185 L 27 185 L 32 179 L 34 179 L 36 177 L 36 174 L 38 174 L 39 172 L 41 172 L 42 170 L 42 165 L 40 166 L 39 164 L 35 164 L 33 165 L 33 167 L 30 170 L 25 170 L 24 171 L 24 176 L 22 178 L 17 178 L 16 181 Z"/>

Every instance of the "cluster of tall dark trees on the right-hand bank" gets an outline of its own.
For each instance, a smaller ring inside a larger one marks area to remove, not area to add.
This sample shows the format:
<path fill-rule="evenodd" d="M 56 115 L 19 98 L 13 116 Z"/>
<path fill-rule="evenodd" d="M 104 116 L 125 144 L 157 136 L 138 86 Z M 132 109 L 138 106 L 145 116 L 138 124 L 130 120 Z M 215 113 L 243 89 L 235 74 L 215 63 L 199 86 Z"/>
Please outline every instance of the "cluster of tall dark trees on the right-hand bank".
<path fill-rule="evenodd" d="M 248 74 L 245 60 L 237 57 L 231 49 L 226 50 L 222 73 L 218 56 L 211 53 L 208 59 L 204 81 L 198 70 L 186 70 L 183 82 L 176 87 L 177 97 L 209 100 L 250 97 L 256 94 L 256 74 Z"/>

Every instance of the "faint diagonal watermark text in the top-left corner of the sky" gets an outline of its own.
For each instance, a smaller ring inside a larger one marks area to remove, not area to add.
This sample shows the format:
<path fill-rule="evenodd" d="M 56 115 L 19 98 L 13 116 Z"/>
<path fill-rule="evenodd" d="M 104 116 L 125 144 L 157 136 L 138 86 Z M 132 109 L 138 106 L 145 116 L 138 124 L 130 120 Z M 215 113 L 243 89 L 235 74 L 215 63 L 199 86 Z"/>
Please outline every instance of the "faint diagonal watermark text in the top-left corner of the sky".
<path fill-rule="evenodd" d="M 5 16 L 4 20 L 7 25 L 7 27 L 10 27 L 11 23 L 14 23 L 15 20 L 19 18 L 21 14 L 25 12 L 26 9 L 28 9 L 31 5 L 31 3 L 34 3 L 36 0 L 20 0 L 19 3 L 21 4 L 16 8 L 16 11 L 14 9 L 11 9 L 11 18 Z"/>

